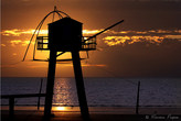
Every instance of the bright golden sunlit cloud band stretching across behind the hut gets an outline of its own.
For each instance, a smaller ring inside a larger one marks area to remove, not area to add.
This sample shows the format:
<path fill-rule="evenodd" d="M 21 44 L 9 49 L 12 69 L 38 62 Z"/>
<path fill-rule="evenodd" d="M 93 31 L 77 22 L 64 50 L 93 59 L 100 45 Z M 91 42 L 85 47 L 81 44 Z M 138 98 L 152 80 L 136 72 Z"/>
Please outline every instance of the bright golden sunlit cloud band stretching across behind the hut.
<path fill-rule="evenodd" d="M 10 45 L 14 47 L 17 45 L 26 46 L 30 41 L 28 40 L 28 37 L 24 37 L 24 35 L 32 35 L 34 31 L 35 30 L 32 29 L 28 29 L 28 30 L 13 29 L 13 30 L 3 30 L 0 33 L 3 36 L 11 36 L 11 37 L 19 36 L 9 41 Z M 83 30 L 83 35 L 91 36 L 100 31 L 103 31 L 103 29 Z M 39 34 L 47 36 L 47 33 L 49 33 L 47 30 L 41 30 Z M 181 40 L 180 33 L 181 30 L 118 31 L 118 32 L 114 30 L 109 30 L 105 32 L 106 36 L 104 36 L 103 40 L 108 46 L 115 46 L 115 45 L 125 46 L 127 44 L 135 44 L 139 42 L 147 42 L 147 43 L 159 45 L 163 42 L 164 38 L 180 41 Z M 87 37 L 84 37 L 84 40 Z M 35 41 L 33 40 L 32 44 L 34 43 Z M 47 41 L 45 43 L 47 43 Z M 6 43 L 2 42 L 1 46 L 4 47 Z"/>

